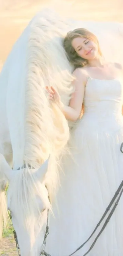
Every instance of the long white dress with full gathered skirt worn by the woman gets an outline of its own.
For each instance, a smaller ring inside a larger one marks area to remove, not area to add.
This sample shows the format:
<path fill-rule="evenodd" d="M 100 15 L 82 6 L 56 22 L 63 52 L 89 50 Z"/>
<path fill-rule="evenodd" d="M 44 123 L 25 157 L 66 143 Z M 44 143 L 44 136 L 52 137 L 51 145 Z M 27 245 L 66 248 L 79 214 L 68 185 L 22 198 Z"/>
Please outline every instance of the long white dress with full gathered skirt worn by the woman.
<path fill-rule="evenodd" d="M 64 163 L 57 206 L 53 207 L 55 218 L 50 216 L 46 251 L 51 256 L 67 256 L 88 239 L 123 180 L 122 104 L 121 78 L 88 79 L 85 113 L 74 132 L 74 161 L 67 158 Z M 75 256 L 89 250 L 105 220 Z M 123 194 L 87 255 L 123 256 Z"/>

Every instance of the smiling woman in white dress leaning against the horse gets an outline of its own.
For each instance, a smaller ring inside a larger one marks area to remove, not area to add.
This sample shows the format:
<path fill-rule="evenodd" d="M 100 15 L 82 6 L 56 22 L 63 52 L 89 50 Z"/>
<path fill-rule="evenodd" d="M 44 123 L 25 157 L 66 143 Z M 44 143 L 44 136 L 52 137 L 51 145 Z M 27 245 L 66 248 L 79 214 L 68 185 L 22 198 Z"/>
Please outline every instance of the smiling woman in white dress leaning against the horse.
<path fill-rule="evenodd" d="M 80 119 L 73 131 L 72 159 L 65 162 L 65 176 L 69 175 L 72 187 L 67 183 L 64 191 L 70 198 L 69 205 L 64 205 L 64 222 L 58 223 L 59 227 L 66 225 L 70 229 L 72 253 L 77 245 L 80 246 L 89 238 L 123 179 L 123 155 L 120 151 L 123 142 L 123 69 L 118 63 L 104 60 L 98 39 L 86 29 L 68 32 L 63 45 L 75 68 L 75 90 L 69 106 L 62 104 L 54 88 L 47 88 L 47 91 L 49 99 L 60 105 L 66 119 Z M 84 114 L 80 118 L 82 105 Z M 65 177 L 61 179 L 61 186 L 63 182 Z M 71 192 L 68 194 L 69 190 Z M 89 256 L 123 255 L 122 216 L 123 196 Z M 74 255 L 82 256 L 89 250 L 106 218 L 89 242 Z M 67 232 L 64 233 L 64 255 L 67 255 Z"/>

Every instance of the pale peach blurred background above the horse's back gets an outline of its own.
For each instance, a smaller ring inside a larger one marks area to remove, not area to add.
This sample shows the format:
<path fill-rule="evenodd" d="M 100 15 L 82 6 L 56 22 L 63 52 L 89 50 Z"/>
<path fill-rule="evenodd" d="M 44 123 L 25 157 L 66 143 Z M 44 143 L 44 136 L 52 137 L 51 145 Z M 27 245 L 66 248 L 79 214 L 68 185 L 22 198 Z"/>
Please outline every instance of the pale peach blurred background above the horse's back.
<path fill-rule="evenodd" d="M 122 0 L 0 0 L 0 68 L 28 22 L 44 7 L 75 19 L 123 22 Z"/>

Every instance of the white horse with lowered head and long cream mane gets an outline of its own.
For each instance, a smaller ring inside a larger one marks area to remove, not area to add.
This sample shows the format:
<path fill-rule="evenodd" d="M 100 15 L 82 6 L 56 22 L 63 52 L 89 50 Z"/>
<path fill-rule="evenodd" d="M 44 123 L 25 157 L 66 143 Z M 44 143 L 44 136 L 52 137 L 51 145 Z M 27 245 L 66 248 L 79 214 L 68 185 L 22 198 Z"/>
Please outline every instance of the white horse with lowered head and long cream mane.
<path fill-rule="evenodd" d="M 50 240 L 57 225 L 53 214 L 59 206 L 62 208 L 63 201 L 69 205 L 66 195 L 61 198 L 58 194 L 56 203 L 56 195 L 63 175 L 62 156 L 67 154 L 69 127 L 73 124 L 67 123 L 56 104 L 49 104 L 45 86 L 54 86 L 62 101 L 69 104 L 74 90 L 73 67 L 62 41 L 67 31 L 77 27 L 97 35 L 104 57 L 123 61 L 123 24 L 66 21 L 51 10 L 44 10 L 33 18 L 13 46 L 0 75 L 0 237 L 2 220 L 4 224 L 8 221 L 4 188 L 9 181 L 8 208 L 21 256 L 39 256 L 48 209 Z M 61 189 L 64 191 L 64 184 Z M 68 255 L 76 249 L 69 235 L 67 247 L 63 248 L 63 230 L 56 234 L 62 237 L 59 248 L 57 244 L 55 249 L 54 245 L 48 248 L 51 256 Z"/>

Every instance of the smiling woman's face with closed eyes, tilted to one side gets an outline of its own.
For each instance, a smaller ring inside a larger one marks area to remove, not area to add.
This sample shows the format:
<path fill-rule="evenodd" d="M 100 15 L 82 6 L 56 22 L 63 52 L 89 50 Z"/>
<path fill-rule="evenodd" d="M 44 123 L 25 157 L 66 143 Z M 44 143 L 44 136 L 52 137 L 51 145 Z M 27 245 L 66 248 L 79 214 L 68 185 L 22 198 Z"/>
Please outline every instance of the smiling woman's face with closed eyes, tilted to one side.
<path fill-rule="evenodd" d="M 72 41 L 72 46 L 83 59 L 93 60 L 98 55 L 99 47 L 90 39 L 76 37 Z"/>

